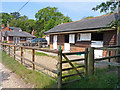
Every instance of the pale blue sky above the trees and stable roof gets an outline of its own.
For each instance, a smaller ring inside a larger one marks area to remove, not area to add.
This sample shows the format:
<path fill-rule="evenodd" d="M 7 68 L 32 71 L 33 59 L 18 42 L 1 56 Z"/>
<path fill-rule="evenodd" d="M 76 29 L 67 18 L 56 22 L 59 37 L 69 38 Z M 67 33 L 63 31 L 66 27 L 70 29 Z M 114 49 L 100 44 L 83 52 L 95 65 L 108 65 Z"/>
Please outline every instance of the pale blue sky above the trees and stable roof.
<path fill-rule="evenodd" d="M 2 0 L 1 12 L 17 12 L 28 0 Z M 44 1 L 44 2 L 43 2 Z M 83 2 L 84 1 L 84 2 Z M 93 7 L 105 0 L 30 0 L 30 2 L 20 11 L 21 15 L 35 19 L 35 13 L 47 6 L 57 7 L 65 16 L 69 16 L 73 21 L 80 20 L 87 16 L 100 16 L 103 13 L 92 10 Z"/>

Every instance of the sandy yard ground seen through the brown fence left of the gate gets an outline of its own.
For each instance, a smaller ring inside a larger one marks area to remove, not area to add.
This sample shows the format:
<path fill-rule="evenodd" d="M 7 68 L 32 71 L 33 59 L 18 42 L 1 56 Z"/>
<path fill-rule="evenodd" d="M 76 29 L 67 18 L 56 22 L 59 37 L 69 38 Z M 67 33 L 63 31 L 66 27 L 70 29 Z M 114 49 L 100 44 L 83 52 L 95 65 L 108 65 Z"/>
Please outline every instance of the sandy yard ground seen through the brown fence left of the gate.
<path fill-rule="evenodd" d="M 21 53 L 20 51 L 17 51 L 17 52 L 16 52 L 17 55 L 20 55 L 20 53 Z M 27 58 L 27 59 L 29 59 L 29 60 L 32 61 L 32 52 L 24 51 L 23 56 L 24 56 L 25 58 Z M 17 57 L 17 58 L 20 59 L 19 57 Z M 27 63 L 28 65 L 32 66 L 32 64 L 31 64 L 30 62 L 26 61 L 26 60 L 23 60 L 23 62 L 25 62 L 25 63 Z M 56 60 L 55 58 L 53 58 L 53 57 L 37 56 L 37 55 L 35 55 L 35 62 L 38 63 L 38 64 L 40 64 L 40 65 L 42 65 L 42 66 L 45 66 L 45 67 L 47 67 L 47 68 L 49 68 L 49 69 L 52 69 L 52 70 L 54 70 L 54 71 L 57 71 L 56 65 L 57 65 L 58 62 L 57 62 L 57 60 Z M 27 65 L 27 67 L 28 67 L 29 69 L 32 69 L 32 68 L 29 67 L 28 65 Z M 48 71 L 48 70 L 45 70 L 44 68 L 41 68 L 41 67 L 38 67 L 38 66 L 35 66 L 35 68 L 36 68 L 37 70 L 40 70 L 40 71 L 42 71 L 42 72 L 44 72 L 44 73 L 52 76 L 52 77 L 56 77 L 56 74 L 54 74 L 54 73 L 52 73 L 52 72 L 50 72 L 50 71 Z"/>

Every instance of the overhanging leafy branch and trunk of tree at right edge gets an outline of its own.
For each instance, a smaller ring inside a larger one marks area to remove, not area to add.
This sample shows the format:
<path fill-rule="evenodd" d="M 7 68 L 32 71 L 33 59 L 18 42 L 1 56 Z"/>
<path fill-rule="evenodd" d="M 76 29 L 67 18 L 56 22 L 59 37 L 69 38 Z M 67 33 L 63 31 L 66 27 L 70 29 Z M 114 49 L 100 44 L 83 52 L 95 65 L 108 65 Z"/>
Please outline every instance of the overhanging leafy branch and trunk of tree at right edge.
<path fill-rule="evenodd" d="M 118 10 L 117 10 L 118 8 Z M 109 11 L 110 13 L 115 12 L 115 10 L 118 11 L 118 16 L 119 19 L 115 24 L 117 25 L 117 45 L 120 46 L 120 0 L 109 0 L 107 2 L 103 2 L 100 5 L 97 5 L 94 7 L 92 10 L 100 10 L 100 12 L 107 12 Z M 117 52 L 120 55 L 120 50 Z M 120 63 L 120 57 L 117 58 L 117 62 Z"/>

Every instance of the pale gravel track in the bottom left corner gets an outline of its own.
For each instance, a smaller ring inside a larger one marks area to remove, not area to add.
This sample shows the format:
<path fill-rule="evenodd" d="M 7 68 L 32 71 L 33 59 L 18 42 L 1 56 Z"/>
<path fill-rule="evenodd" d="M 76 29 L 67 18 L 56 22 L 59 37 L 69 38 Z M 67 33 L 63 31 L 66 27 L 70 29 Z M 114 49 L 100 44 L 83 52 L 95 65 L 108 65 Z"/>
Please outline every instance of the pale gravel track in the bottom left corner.
<path fill-rule="evenodd" d="M 0 89 L 1 88 L 32 88 L 33 85 L 26 84 L 15 73 L 0 63 Z"/>

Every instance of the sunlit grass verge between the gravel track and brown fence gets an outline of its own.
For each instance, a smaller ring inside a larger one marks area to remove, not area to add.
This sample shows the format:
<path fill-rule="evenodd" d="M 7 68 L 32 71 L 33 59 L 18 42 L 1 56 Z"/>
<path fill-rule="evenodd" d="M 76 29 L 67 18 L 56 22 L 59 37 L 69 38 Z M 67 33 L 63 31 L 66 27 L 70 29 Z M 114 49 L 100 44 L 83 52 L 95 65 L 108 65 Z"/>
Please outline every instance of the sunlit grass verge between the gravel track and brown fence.
<path fill-rule="evenodd" d="M 9 55 L 5 55 L 5 53 L 2 53 L 2 63 L 22 78 L 26 83 L 29 82 L 33 84 L 35 88 L 56 87 L 56 81 L 54 79 L 37 71 L 27 69 Z"/>

